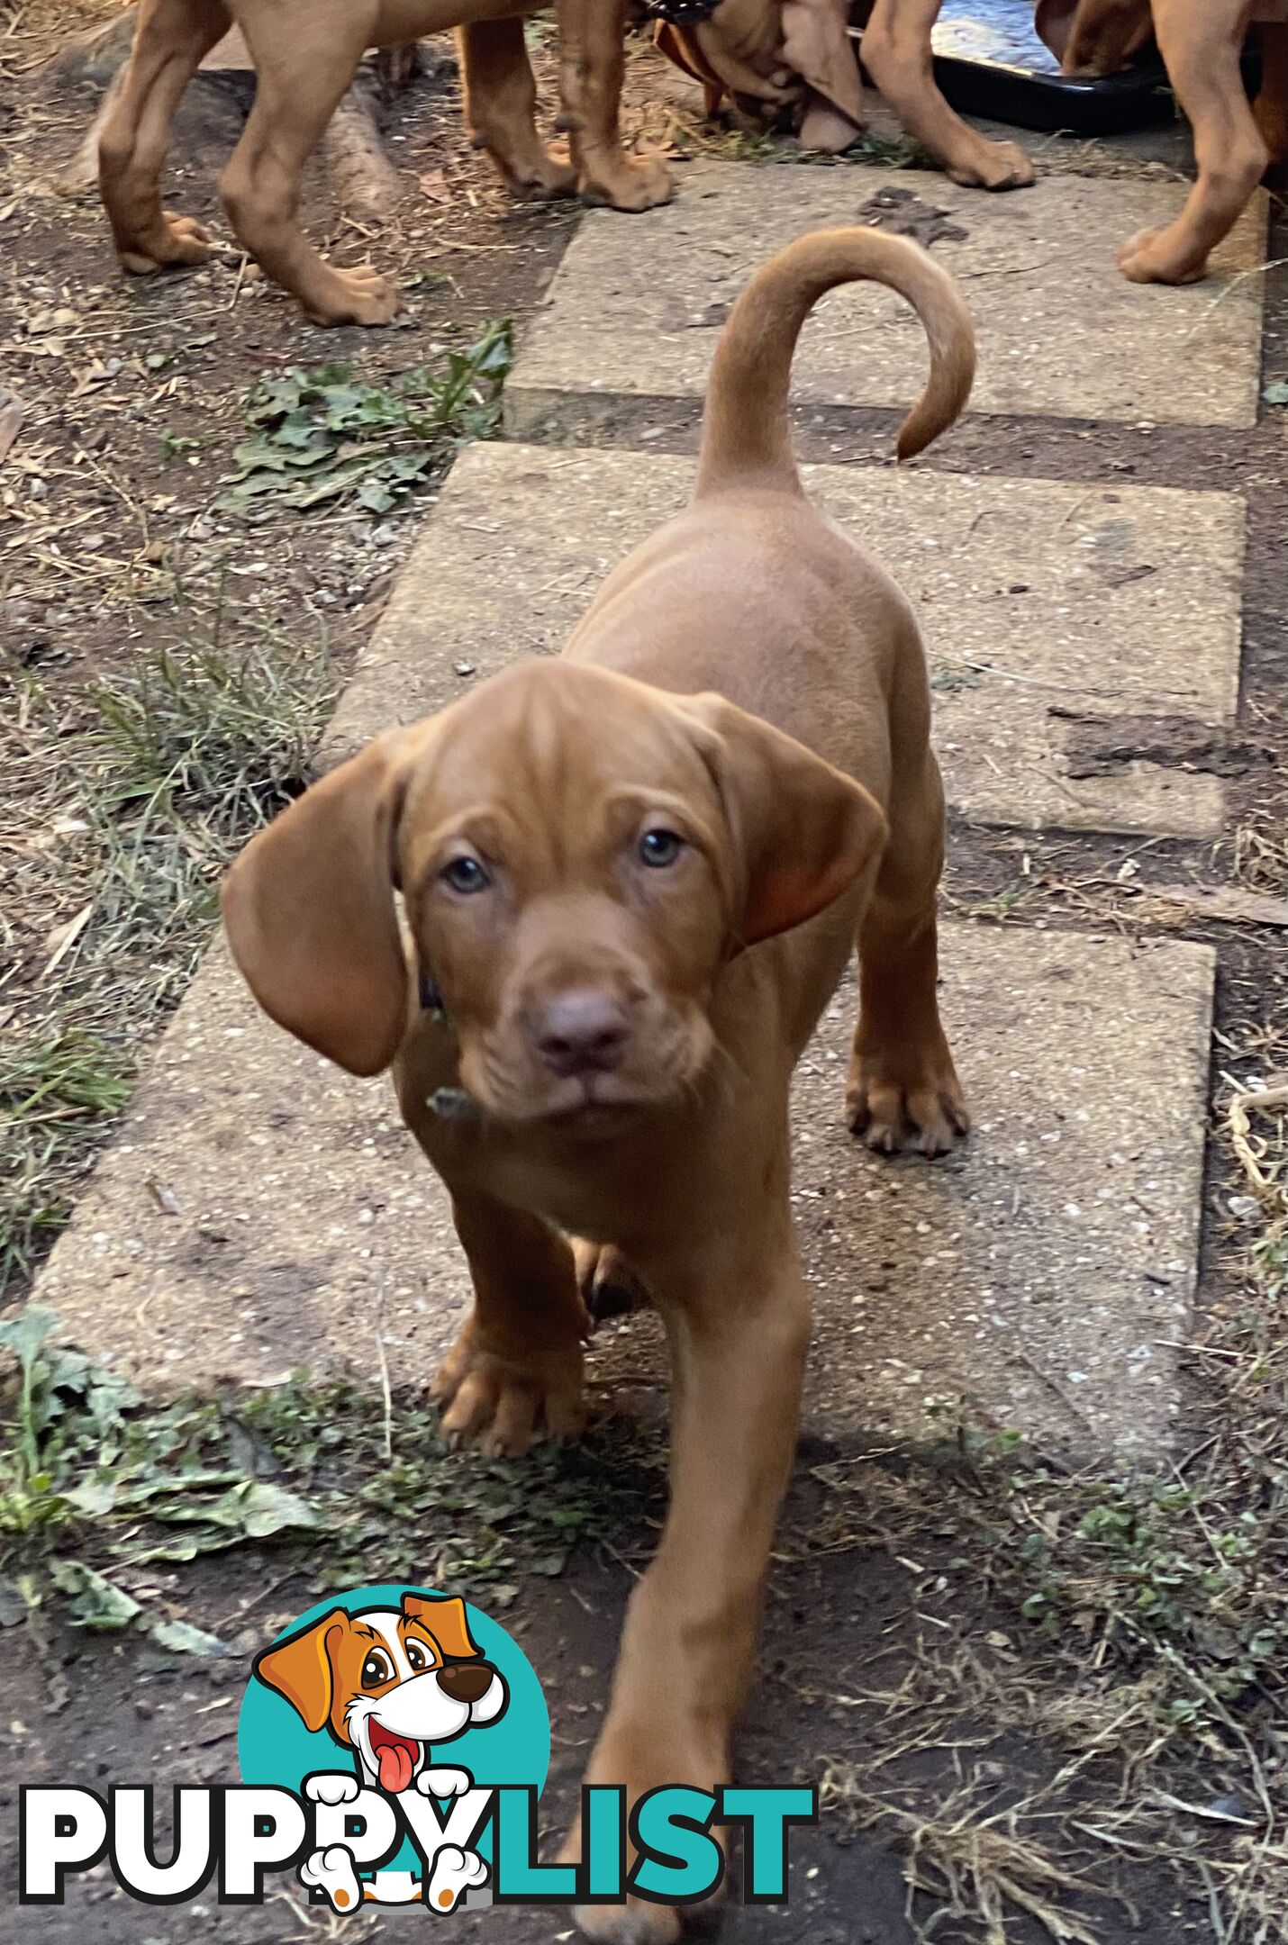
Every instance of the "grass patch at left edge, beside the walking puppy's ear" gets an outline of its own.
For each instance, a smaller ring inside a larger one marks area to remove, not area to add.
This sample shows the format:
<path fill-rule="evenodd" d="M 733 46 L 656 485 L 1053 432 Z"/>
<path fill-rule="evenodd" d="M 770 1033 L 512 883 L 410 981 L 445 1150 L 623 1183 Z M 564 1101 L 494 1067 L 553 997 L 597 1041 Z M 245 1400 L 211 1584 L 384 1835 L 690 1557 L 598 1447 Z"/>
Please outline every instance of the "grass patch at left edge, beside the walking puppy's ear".
<path fill-rule="evenodd" d="M 224 595 L 177 589 L 181 634 L 70 702 L 33 681 L 0 710 L 0 760 L 21 821 L 10 957 L 25 998 L 0 1052 L 0 1299 L 66 1221 L 128 1099 L 134 1046 L 187 986 L 216 918 L 220 873 L 304 790 L 333 704 L 323 644 L 222 646 Z M 43 937 L 27 908 L 58 914 Z"/>

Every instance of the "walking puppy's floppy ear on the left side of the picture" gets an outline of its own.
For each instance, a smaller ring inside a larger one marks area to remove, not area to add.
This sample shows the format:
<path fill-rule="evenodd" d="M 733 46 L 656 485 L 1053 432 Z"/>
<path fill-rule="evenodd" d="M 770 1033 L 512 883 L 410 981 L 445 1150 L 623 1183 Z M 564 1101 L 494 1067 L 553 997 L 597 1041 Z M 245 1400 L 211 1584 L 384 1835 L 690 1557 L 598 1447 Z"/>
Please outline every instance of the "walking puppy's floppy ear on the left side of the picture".
<path fill-rule="evenodd" d="M 265 1013 L 350 1074 L 387 1068 L 407 1027 L 393 912 L 405 751 L 395 731 L 331 770 L 224 879 L 233 959 Z"/>

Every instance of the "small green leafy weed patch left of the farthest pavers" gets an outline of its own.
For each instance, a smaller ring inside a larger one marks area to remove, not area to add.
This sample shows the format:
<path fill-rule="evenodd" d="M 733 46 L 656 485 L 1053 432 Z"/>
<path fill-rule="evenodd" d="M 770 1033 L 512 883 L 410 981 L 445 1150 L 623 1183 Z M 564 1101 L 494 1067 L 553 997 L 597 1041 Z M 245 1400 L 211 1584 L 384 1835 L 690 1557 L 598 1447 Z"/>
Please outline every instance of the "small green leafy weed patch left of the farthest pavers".
<path fill-rule="evenodd" d="M 469 350 L 447 352 L 442 370 L 393 385 L 366 385 L 348 364 L 261 379 L 245 403 L 251 438 L 216 506 L 247 521 L 319 506 L 391 513 L 461 445 L 496 436 L 512 354 L 502 321 Z"/>

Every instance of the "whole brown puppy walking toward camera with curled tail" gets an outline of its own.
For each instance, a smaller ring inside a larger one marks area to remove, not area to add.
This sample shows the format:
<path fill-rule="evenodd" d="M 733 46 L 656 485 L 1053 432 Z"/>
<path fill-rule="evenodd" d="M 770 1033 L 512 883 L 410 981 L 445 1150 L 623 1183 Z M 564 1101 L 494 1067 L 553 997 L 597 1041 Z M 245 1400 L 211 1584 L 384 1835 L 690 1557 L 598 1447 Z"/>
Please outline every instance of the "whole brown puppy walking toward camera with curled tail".
<path fill-rule="evenodd" d="M 967 1128 L 936 1002 L 944 796 L 916 620 L 809 506 L 790 447 L 796 336 L 854 278 L 930 336 L 899 453 L 949 426 L 975 366 L 951 278 L 901 237 L 802 237 L 724 331 L 693 506 L 564 655 L 372 743 L 224 889 L 261 1006 L 354 1074 L 395 1062 L 451 1190 L 475 1311 L 438 1385 L 449 1435 L 518 1453 L 576 1433 L 568 1235 L 617 1249 L 665 1321 L 671 1509 L 590 1764 L 632 1799 L 728 1774 L 809 1338 L 788 1083 L 856 943 L 850 1126 L 928 1155 Z M 582 1922 L 677 1935 L 658 1906 Z"/>

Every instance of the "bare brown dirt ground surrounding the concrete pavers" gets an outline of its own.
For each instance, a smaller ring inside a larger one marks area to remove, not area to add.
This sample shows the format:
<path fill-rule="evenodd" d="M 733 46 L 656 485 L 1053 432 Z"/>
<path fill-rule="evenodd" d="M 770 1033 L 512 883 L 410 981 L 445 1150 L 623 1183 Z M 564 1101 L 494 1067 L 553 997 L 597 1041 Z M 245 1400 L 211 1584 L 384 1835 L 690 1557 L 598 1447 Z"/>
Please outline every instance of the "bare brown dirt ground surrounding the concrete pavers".
<path fill-rule="evenodd" d="M 288 300 L 247 276 L 228 241 L 204 270 L 126 284 L 93 196 L 68 198 L 51 187 L 93 107 L 91 89 L 53 84 L 37 66 L 47 47 L 27 31 L 31 19 L 23 29 L 19 12 L 16 25 L 19 31 L 0 41 L 0 130 L 8 144 L 0 177 L 0 360 L 4 385 L 19 395 L 25 418 L 0 469 L 6 704 L 21 718 L 23 685 L 35 679 L 54 714 L 58 698 L 74 714 L 88 679 L 128 671 L 144 650 L 173 634 L 177 585 L 195 599 L 218 589 L 226 644 L 265 632 L 296 644 L 325 638 L 339 681 L 379 613 L 416 517 L 333 512 L 247 529 L 212 513 L 233 447 L 245 436 L 247 387 L 292 366 L 335 360 L 352 362 L 366 383 L 385 385 L 444 348 L 469 344 L 492 319 L 521 321 L 558 265 L 576 210 L 516 208 L 502 194 L 486 161 L 463 140 L 444 56 L 428 84 L 387 109 L 385 134 L 409 177 L 409 196 L 383 233 L 337 228 L 325 185 L 319 177 L 309 183 L 307 222 L 315 235 L 329 237 L 344 261 L 370 251 L 399 270 L 411 303 L 397 329 L 321 333 L 302 323 Z M 652 105 L 646 111 L 654 84 L 652 62 L 640 56 L 632 121 L 648 115 L 654 134 L 683 142 L 683 128 L 667 124 L 665 115 L 660 121 Z M 175 142 L 173 200 L 224 237 L 214 183 L 243 113 L 235 88 L 204 82 L 183 111 Z M 1269 257 L 1280 263 L 1267 276 L 1267 385 L 1288 377 L 1286 245 L 1288 224 L 1276 214 Z M 854 440 L 856 459 L 870 459 L 874 447 L 885 451 L 893 422 L 893 408 L 819 418 L 802 428 L 802 455 L 835 461 L 829 447 L 844 434 Z M 628 440 L 630 426 L 619 430 Z M 1230 838 L 1206 852 L 1171 842 L 959 829 L 951 834 L 946 887 L 949 908 L 1000 924 L 1167 930 L 1212 941 L 1222 969 L 1212 1079 L 1218 1130 L 1226 1128 L 1232 1085 L 1288 1068 L 1284 930 L 1247 922 L 1245 914 L 1214 922 L 1200 906 L 1152 899 L 1150 885 L 1185 881 L 1267 901 L 1288 897 L 1286 432 L 1288 414 L 1274 408 L 1253 434 L 979 418 L 953 453 L 953 465 L 1012 477 L 1103 478 L 1117 471 L 1138 482 L 1247 494 L 1239 733 L 1228 745 L 1204 745 L 1193 735 L 1187 741 L 1181 727 L 1165 753 L 1183 766 L 1218 766 L 1232 778 L 1237 817 Z M 677 424 L 660 443 L 691 449 L 693 428 Z M 934 455 L 928 463 L 936 463 Z M 1140 733 L 1128 725 L 1123 751 L 1101 753 L 1101 760 L 1136 753 Z M 25 745 L 23 755 L 31 757 Z M 12 813 L 21 811 L 14 799 L 25 790 L 35 805 L 31 762 L 8 770 L 4 782 L 0 1013 L 18 1031 L 45 1006 L 51 939 L 78 902 L 47 848 L 8 836 Z M 111 1116 L 95 1140 L 109 1126 Z M 93 1144 L 86 1161 L 91 1151 Z M 1208 1317 L 1199 1342 L 1212 1352 L 1199 1350 L 1191 1360 L 1177 1476 L 1191 1476 L 1193 1467 L 1193 1478 L 1202 1474 L 1206 1482 L 1206 1498 L 1197 1490 L 1200 1527 L 1216 1517 L 1214 1505 L 1222 1517 L 1228 1513 L 1230 1531 L 1249 1509 L 1265 1523 L 1265 1544 L 1239 1570 L 1243 1579 L 1230 1601 L 1247 1595 L 1237 1612 L 1251 1612 L 1249 1589 L 1257 1583 L 1257 1601 L 1274 1607 L 1280 1628 L 1284 1587 L 1274 1577 L 1288 1554 L 1274 1548 L 1284 1546 L 1288 1463 L 1270 1426 L 1267 1400 L 1282 1398 L 1282 1391 L 1267 1379 L 1272 1356 L 1265 1338 L 1274 1303 L 1288 1309 L 1288 1299 L 1278 1284 L 1257 1282 L 1249 1270 L 1247 1212 L 1232 1212 L 1232 1196 L 1237 1204 L 1247 1181 L 1226 1138 L 1212 1142 L 1208 1190 Z M 1270 1210 L 1267 1247 L 1278 1235 L 1270 1220 L 1276 1208 L 1263 1204 Z M 14 1288 L 10 1301 L 19 1297 Z M 1257 1313 L 1253 1323 L 1249 1309 Z M 1212 1453 L 1226 1451 L 1228 1418 L 1237 1424 L 1234 1457 L 1230 1470 L 1216 1472 Z M 730 1906 L 720 1935 L 784 1945 L 911 1945 L 916 1937 L 940 1945 L 1029 1945 L 1045 1937 L 1265 1945 L 1288 1937 L 1280 1834 L 1288 1813 L 1288 1626 L 1274 1634 L 1269 1659 L 1247 1680 L 1218 1680 L 1214 1669 L 1228 1669 L 1230 1655 L 1222 1661 L 1224 1649 L 1204 1645 L 1195 1620 L 1195 1603 L 1214 1599 L 1212 1589 L 1195 1570 L 1197 1579 L 1185 1581 L 1191 1607 L 1175 1593 L 1177 1579 L 1191 1572 L 1193 1535 L 1185 1546 L 1175 1542 L 1175 1558 L 1163 1558 L 1134 1486 L 1062 1480 L 1043 1468 L 1041 1455 L 1012 1463 L 988 1443 L 990 1432 L 996 1428 L 984 1428 L 981 1445 L 961 1433 L 938 1453 L 874 1449 L 862 1439 L 844 1449 L 802 1449 L 770 1585 L 765 1677 L 741 1737 L 741 1772 L 747 1780 L 821 1782 L 823 1819 L 794 1844 L 790 1904 Z M 576 1801 L 621 1609 L 658 1517 L 660 1428 L 644 1426 L 642 1439 L 648 1490 L 634 1511 L 611 1531 L 588 1535 L 562 1572 L 523 1574 L 519 1554 L 508 1589 L 504 1618 L 545 1680 L 555 1723 L 553 1780 L 543 1799 L 551 1830 Z M 296 1455 L 292 1476 L 298 1465 Z M 516 1490 L 527 1490 L 523 1468 L 512 1474 Z M 342 1507 L 358 1486 L 356 1465 L 340 1470 L 327 1503 Z M 1066 1502 L 1072 1511 L 1064 1511 Z M 1132 1544 L 1146 1527 L 1152 1538 L 1142 1538 L 1130 1558 L 1121 1548 L 1113 1570 L 1103 1554 L 1091 1566 L 1082 1554 L 1062 1566 L 1058 1537 L 1070 1525 L 1082 1531 L 1088 1509 L 1097 1507 L 1121 1511 L 1123 1519 L 1130 1513 Z M 434 1509 L 409 1521 L 387 1519 L 368 1535 L 366 1572 L 354 1577 L 379 1579 L 381 1570 L 395 1574 L 399 1566 L 422 1577 L 426 1566 L 416 1572 L 409 1560 L 438 1556 L 438 1521 Z M 1047 1579 L 1031 1568 L 1035 1533 L 1051 1546 Z M 1202 1548 L 1202 1533 L 1195 1544 Z M 1177 1566 L 1181 1556 L 1185 1570 Z M 307 1546 L 243 1544 L 130 1581 L 136 1591 L 148 1581 L 167 1614 L 216 1634 L 230 1649 L 226 1659 L 179 1655 L 134 1630 L 76 1628 L 56 1601 L 27 1624 L 10 1626 L 0 1680 L 6 1826 L 25 1782 L 233 1780 L 245 1657 L 327 1583 L 335 1585 L 340 1570 L 337 1544 L 315 1538 Z M 1136 1636 L 1123 1618 L 1123 1587 L 1136 1587 L 1140 1575 L 1154 1575 L 1167 1585 L 1167 1599 L 1181 1603 L 1171 1632 L 1171 1624 L 1150 1620 Z M 1269 1593 L 1257 1575 L 1270 1577 Z M 479 1585 L 484 1609 L 490 1585 L 488 1577 Z M 1049 1601 L 1053 1626 L 1035 1618 L 1037 1597 Z M 1200 1684 L 1189 1717 L 1169 1686 L 1169 1653 L 1183 1655 Z M 130 1904 L 101 1873 L 72 1892 L 66 1910 L 19 1912 L 14 1865 L 8 1842 L 0 1939 L 70 1945 L 88 1935 L 103 1945 L 150 1945 L 189 1937 L 197 1926 L 202 1935 L 230 1941 L 339 1931 L 304 1908 L 294 1887 L 263 1912 L 214 1902 L 160 1910 Z M 364 1937 L 379 1924 L 358 1918 L 344 1935 Z M 562 1920 L 525 1912 L 461 1920 L 459 1929 L 516 1941 L 566 1935 Z"/>

